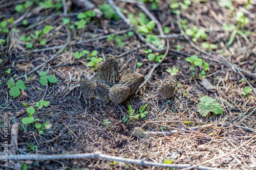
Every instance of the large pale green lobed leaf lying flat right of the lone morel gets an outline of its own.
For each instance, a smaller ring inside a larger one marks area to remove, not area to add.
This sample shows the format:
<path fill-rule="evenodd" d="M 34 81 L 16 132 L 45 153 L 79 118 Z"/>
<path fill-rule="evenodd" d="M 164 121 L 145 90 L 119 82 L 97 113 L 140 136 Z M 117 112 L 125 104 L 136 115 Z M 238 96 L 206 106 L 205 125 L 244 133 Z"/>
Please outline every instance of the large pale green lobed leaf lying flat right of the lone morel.
<path fill-rule="evenodd" d="M 215 114 L 223 113 L 221 105 L 215 99 L 212 99 L 209 96 L 203 96 L 199 101 L 197 111 L 202 116 L 207 116 L 209 112 L 214 112 Z"/>

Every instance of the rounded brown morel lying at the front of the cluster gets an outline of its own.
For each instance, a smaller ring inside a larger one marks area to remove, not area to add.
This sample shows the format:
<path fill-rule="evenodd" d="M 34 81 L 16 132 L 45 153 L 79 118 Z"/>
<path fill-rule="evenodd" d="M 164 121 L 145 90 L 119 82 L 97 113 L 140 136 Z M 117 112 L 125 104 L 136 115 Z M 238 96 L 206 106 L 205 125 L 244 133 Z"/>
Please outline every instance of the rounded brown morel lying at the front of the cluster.
<path fill-rule="evenodd" d="M 129 87 L 122 84 L 116 84 L 110 89 L 110 99 L 116 104 L 122 103 L 127 99 L 129 92 Z"/>

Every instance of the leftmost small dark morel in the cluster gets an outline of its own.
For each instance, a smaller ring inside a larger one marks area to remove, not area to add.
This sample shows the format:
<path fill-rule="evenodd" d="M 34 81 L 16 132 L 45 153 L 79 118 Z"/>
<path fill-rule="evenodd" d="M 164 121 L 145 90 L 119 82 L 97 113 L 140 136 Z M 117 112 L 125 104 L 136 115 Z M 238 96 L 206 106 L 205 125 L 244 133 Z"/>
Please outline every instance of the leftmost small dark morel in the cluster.
<path fill-rule="evenodd" d="M 92 99 L 96 96 L 97 84 L 89 79 L 80 80 L 80 89 L 86 99 Z"/>

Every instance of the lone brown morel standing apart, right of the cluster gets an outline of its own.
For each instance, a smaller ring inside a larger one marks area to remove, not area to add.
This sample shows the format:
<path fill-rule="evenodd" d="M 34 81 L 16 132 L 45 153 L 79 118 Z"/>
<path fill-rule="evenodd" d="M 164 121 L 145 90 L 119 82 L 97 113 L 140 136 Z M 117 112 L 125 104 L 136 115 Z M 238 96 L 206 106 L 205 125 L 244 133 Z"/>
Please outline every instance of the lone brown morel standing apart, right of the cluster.
<path fill-rule="evenodd" d="M 165 78 L 163 83 L 157 88 L 158 95 L 160 95 L 163 99 L 171 98 L 174 95 L 174 91 L 175 84 L 168 78 Z"/>

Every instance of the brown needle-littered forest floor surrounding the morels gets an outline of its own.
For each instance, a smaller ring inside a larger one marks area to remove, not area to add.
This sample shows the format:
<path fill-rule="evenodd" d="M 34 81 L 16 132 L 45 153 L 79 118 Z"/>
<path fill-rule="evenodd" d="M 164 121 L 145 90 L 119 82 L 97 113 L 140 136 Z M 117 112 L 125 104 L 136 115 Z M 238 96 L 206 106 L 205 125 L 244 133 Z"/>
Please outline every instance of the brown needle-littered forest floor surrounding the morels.
<path fill-rule="evenodd" d="M 62 8 L 65 1 L 28 2 L 0 1 L 1 155 L 4 138 L 9 138 L 9 150 L 17 155 L 98 151 L 188 169 L 256 168 L 256 94 L 249 87 L 256 87 L 256 1 L 248 6 L 243 0 L 114 1 L 130 26 L 115 14 L 113 4 L 106 5 L 113 1 L 92 1 L 86 7 L 67 1 L 66 8 Z M 94 11 L 86 12 L 90 7 Z M 150 15 L 155 23 L 159 21 L 152 30 L 143 25 L 153 20 Z M 69 91 L 80 79 L 94 75 L 106 55 L 129 52 L 118 58 L 120 74 L 148 75 L 165 54 L 166 42 L 168 53 L 151 79 L 121 104 L 85 100 L 79 87 Z M 159 58 L 152 60 L 154 55 Z M 192 55 L 203 60 L 189 62 Z M 225 66 L 219 55 L 236 68 Z M 174 75 L 166 71 L 174 67 L 179 69 Z M 242 72 L 243 79 L 237 68 L 251 75 Z M 166 77 L 177 81 L 169 100 L 157 94 Z M 202 116 L 197 110 L 202 96 L 215 99 L 223 113 Z M 45 105 L 38 107 L 40 101 Z M 130 119 L 129 105 L 134 115 L 143 105 L 148 113 Z M 26 124 L 29 116 L 32 122 Z M 2 137 L 5 123 L 8 136 Z M 151 135 L 133 135 L 135 127 Z M 6 168 L 2 163 L 0 169 Z M 9 160 L 8 165 L 15 169 L 166 169 L 99 158 Z"/>

